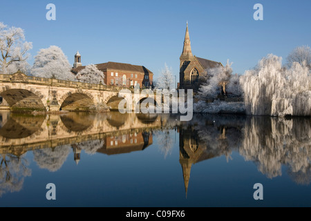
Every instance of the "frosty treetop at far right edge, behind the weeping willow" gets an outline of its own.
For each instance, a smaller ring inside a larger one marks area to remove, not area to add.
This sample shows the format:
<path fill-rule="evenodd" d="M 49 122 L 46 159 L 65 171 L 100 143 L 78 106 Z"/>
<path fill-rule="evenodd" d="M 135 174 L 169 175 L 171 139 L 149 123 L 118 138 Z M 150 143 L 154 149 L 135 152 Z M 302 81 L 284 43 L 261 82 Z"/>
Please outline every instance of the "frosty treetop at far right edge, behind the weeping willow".
<path fill-rule="evenodd" d="M 287 57 L 288 66 L 291 67 L 294 62 L 298 62 L 301 66 L 311 68 L 311 48 L 309 46 L 300 46 L 292 50 Z"/>

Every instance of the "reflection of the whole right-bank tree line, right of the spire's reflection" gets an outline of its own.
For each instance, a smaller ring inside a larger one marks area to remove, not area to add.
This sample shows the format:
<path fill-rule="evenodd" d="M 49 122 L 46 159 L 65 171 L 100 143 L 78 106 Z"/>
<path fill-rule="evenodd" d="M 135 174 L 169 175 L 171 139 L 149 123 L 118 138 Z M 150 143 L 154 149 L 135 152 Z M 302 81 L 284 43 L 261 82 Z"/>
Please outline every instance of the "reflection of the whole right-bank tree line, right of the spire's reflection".
<path fill-rule="evenodd" d="M 238 151 L 267 177 L 282 175 L 282 165 L 297 184 L 311 182 L 311 119 L 194 115 L 180 130 L 193 131 L 209 155 Z"/>

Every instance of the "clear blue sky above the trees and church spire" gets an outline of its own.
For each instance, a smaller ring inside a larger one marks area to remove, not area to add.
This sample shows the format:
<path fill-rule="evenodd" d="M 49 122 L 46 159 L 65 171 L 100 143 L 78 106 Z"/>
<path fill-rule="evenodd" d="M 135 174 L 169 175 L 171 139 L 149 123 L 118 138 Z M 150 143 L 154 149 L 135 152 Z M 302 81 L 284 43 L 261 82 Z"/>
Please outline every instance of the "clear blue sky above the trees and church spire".
<path fill-rule="evenodd" d="M 56 21 L 46 20 L 46 5 L 56 6 Z M 256 3 L 263 21 L 253 19 Z M 149 68 L 156 77 L 167 63 L 179 75 L 179 57 L 189 21 L 194 55 L 234 64 L 243 74 L 262 57 L 283 57 L 311 46 L 311 1 L 3 1 L 0 21 L 23 28 L 33 57 L 39 49 L 59 46 L 73 64 L 115 61 Z"/>

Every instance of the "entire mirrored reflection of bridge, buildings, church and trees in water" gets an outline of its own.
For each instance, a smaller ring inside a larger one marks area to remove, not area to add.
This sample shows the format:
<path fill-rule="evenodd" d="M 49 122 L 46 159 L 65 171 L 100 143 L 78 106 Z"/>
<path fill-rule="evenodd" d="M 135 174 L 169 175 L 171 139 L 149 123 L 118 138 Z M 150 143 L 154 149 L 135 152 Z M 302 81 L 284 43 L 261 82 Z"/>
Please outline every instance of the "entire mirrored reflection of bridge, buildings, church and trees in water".
<path fill-rule="evenodd" d="M 281 167 L 296 184 L 311 182 L 311 119 L 194 115 L 178 122 L 173 115 L 67 113 L 19 115 L 0 113 L 0 196 L 19 191 L 31 174 L 23 157 L 33 151 L 42 169 L 59 170 L 69 153 L 75 162 L 88 154 L 115 155 L 144 151 L 157 140 L 167 155 L 173 147 L 172 130 L 179 134 L 179 163 L 185 192 L 194 165 L 215 157 L 231 160 L 233 152 L 252 161 L 268 178 L 281 176 Z"/>

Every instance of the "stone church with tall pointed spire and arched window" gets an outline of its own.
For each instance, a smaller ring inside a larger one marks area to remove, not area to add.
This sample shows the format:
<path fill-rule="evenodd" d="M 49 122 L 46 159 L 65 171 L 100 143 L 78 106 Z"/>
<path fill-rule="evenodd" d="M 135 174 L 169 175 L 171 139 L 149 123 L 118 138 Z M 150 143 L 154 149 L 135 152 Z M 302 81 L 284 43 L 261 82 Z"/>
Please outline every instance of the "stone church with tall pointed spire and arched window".
<path fill-rule="evenodd" d="M 184 41 L 184 48 L 180 56 L 180 89 L 192 89 L 198 91 L 202 83 L 202 77 L 207 77 L 208 70 L 223 66 L 220 62 L 203 59 L 192 55 L 189 37 L 188 22 Z"/>

